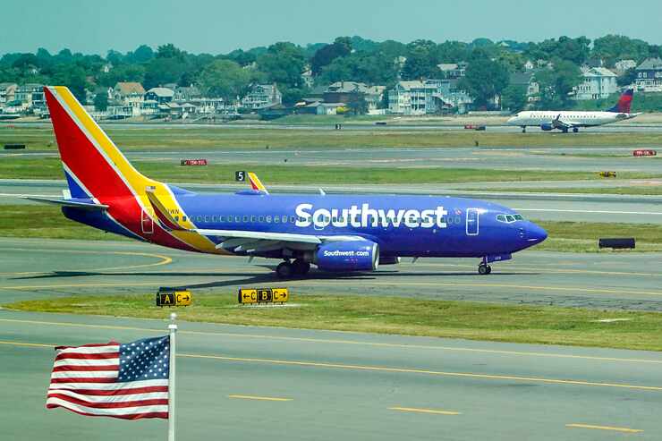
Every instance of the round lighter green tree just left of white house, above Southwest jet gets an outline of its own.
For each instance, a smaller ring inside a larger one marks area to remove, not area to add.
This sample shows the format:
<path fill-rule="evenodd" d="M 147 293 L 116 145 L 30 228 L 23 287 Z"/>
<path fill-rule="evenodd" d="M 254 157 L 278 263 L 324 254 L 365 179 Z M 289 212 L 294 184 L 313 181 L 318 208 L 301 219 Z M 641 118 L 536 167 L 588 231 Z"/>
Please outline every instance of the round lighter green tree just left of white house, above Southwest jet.
<path fill-rule="evenodd" d="M 209 97 L 232 102 L 250 83 L 250 72 L 230 60 L 215 60 L 199 76 L 200 88 Z"/>

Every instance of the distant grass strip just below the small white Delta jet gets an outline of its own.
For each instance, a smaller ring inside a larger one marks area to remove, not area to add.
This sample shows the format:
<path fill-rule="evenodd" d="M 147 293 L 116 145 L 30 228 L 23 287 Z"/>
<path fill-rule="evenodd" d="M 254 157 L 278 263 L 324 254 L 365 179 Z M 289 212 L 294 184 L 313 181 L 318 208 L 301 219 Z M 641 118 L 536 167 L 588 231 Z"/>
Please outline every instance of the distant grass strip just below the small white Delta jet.
<path fill-rule="evenodd" d="M 55 150 L 55 137 L 48 127 L 0 125 L 0 145 L 23 143 L 28 150 Z M 186 149 L 186 148 L 371 148 L 371 147 L 576 147 L 632 146 L 655 148 L 661 145 L 657 133 L 650 132 L 585 132 L 516 133 L 488 131 L 411 130 L 405 127 L 389 130 L 331 130 L 237 128 L 229 126 L 144 128 L 107 125 L 109 136 L 123 149 Z"/>

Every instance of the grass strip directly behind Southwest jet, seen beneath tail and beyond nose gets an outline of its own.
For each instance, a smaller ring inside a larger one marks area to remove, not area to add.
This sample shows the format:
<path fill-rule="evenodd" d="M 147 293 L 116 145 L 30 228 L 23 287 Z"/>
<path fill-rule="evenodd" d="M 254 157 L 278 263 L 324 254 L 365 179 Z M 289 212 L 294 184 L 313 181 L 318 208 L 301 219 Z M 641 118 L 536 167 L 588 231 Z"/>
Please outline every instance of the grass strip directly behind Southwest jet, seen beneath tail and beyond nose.
<path fill-rule="evenodd" d="M 60 208 L 49 205 L 0 206 L 0 237 L 43 237 L 89 241 L 130 241 L 113 233 L 103 233 L 64 217 Z M 536 221 L 549 234 L 536 250 L 598 251 L 598 237 L 634 237 L 638 251 L 662 251 L 662 225 L 599 224 L 584 222 Z M 607 251 L 611 252 L 611 251 Z"/>

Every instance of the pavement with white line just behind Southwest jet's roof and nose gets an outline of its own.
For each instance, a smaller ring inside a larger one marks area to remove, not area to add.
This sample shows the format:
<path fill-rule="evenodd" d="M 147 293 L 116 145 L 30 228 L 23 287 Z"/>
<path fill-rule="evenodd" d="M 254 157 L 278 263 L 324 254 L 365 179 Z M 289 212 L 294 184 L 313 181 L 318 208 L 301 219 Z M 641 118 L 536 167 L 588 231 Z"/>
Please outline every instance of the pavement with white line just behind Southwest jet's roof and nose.
<path fill-rule="evenodd" d="M 636 181 L 641 182 L 641 181 Z M 567 183 L 567 182 L 566 182 Z M 591 182 L 578 182 L 577 185 Z M 527 191 L 535 191 L 540 182 L 528 182 Z M 564 182 L 561 183 L 562 185 Z M 191 191 L 236 191 L 245 185 L 209 185 L 177 183 Z M 463 184 L 474 187 L 472 184 Z M 508 183 L 493 183 L 495 186 L 512 186 Z M 556 183 L 548 182 L 554 186 Z M 17 195 L 41 195 L 59 197 L 65 188 L 64 181 L 43 180 L 0 180 L 0 206 L 3 204 L 31 203 L 19 199 Z M 318 192 L 318 186 L 269 185 L 272 192 Z M 325 190 L 333 192 L 357 193 L 411 193 L 460 196 L 488 199 L 506 207 L 517 208 L 524 216 L 538 220 L 562 220 L 577 222 L 622 222 L 634 224 L 662 223 L 662 196 L 623 196 L 599 194 L 530 194 L 524 192 L 467 191 L 453 184 L 412 184 L 412 185 L 325 185 Z"/>

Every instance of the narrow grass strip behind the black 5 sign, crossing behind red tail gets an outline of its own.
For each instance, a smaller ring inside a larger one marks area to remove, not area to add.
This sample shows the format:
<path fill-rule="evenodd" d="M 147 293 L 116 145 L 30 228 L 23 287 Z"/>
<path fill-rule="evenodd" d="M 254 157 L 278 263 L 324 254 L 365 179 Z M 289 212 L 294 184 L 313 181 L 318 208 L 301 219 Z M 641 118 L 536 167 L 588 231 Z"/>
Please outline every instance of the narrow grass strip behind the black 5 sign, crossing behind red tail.
<path fill-rule="evenodd" d="M 401 168 L 401 167 L 339 167 L 301 166 L 295 160 L 282 165 L 210 164 L 182 167 L 174 161 L 132 161 L 150 178 L 165 182 L 234 182 L 235 170 L 255 172 L 268 184 L 299 183 L 451 183 L 451 182 L 513 182 L 597 180 L 590 172 L 537 170 L 486 170 L 479 168 Z M 342 176 L 342 180 L 338 179 Z M 2 179 L 63 179 L 62 165 L 55 157 L 5 157 L 0 160 Z M 620 179 L 662 177 L 659 174 L 624 172 Z"/>

